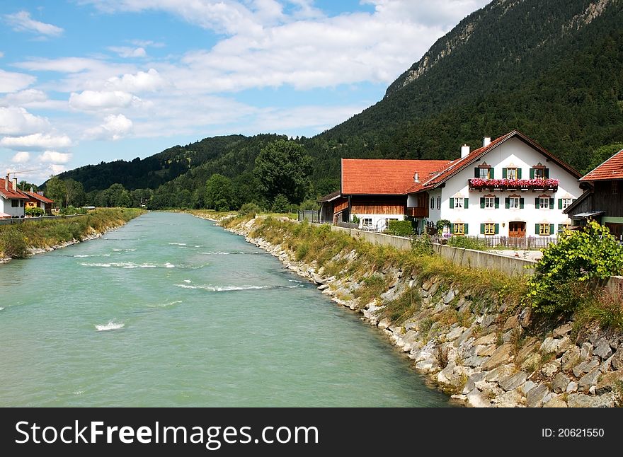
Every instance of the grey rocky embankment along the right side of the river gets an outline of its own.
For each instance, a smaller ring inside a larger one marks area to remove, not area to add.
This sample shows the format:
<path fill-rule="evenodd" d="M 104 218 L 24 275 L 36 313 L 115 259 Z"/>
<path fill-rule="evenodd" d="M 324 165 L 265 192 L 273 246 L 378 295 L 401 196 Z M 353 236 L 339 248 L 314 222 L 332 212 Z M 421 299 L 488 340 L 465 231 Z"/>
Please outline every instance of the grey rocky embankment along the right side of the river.
<path fill-rule="evenodd" d="M 353 299 L 361 279 L 324 274 L 315 262 L 296 262 L 294 253 L 263 238 L 249 238 L 256 219 L 229 230 L 267 250 L 299 276 L 318 285 L 323 294 L 362 313 L 389 340 L 408 353 L 416 369 L 428 375 L 452 398 L 475 407 L 612 407 L 623 391 L 623 335 L 598 328 L 574 332 L 572 323 L 546 335 L 530 332 L 530 308 L 473 306 L 465 291 L 445 287 L 432 278 L 420 285 L 397 267 L 375 272 L 389 287 L 370 303 Z M 355 262 L 358 253 L 333 260 Z M 401 325 L 380 318 L 385 303 L 404 291 L 416 291 L 422 306 Z M 481 311 L 474 311 L 480 309 Z M 445 316 L 462 316 L 448 323 Z"/>

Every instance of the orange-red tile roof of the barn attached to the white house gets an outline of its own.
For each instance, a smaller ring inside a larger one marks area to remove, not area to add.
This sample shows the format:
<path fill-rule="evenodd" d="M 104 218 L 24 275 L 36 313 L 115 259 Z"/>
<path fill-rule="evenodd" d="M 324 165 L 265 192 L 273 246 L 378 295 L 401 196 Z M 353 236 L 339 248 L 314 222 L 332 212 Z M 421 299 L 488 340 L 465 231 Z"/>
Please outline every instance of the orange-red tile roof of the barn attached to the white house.
<path fill-rule="evenodd" d="M 406 195 L 415 192 L 450 161 L 342 159 L 343 195 Z M 414 180 L 419 174 L 420 183 Z"/>

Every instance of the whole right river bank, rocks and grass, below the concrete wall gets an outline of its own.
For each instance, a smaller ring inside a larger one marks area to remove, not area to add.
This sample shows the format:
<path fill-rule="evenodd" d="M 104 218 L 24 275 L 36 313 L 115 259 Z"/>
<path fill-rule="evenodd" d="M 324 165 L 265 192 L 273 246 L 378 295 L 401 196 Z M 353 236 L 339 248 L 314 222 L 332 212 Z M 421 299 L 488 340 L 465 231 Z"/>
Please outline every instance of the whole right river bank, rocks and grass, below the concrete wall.
<path fill-rule="evenodd" d="M 486 277 L 476 274 L 478 281 L 469 282 L 473 272 L 451 265 L 427 271 L 413 258 L 323 228 L 263 219 L 224 225 L 336 303 L 361 313 L 418 371 L 466 405 L 620 405 L 623 335 L 618 332 L 579 328 L 572 321 L 544 325 L 513 299 L 513 291 L 491 294 L 479 288 Z M 464 278 L 454 280 L 443 268 Z M 510 288 L 522 284 L 516 278 L 507 282 Z"/>

